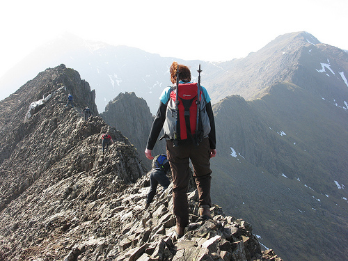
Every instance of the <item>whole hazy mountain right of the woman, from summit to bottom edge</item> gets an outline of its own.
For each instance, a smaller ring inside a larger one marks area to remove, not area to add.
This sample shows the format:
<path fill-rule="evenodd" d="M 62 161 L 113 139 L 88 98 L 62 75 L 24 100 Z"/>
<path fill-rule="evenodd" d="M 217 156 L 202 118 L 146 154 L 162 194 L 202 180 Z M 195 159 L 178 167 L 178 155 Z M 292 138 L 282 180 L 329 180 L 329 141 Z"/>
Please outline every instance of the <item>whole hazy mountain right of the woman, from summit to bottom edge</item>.
<path fill-rule="evenodd" d="M 260 242 L 287 260 L 345 259 L 347 53 L 297 33 L 239 62 L 246 68 L 235 68 L 224 84 L 246 99 L 233 95 L 214 104 L 216 202 L 253 223 Z M 266 83 L 262 63 L 273 75 Z M 239 79 L 237 72 L 246 75 Z M 216 95 L 219 81 L 215 88 Z M 271 235 L 274 228 L 282 233 Z"/>

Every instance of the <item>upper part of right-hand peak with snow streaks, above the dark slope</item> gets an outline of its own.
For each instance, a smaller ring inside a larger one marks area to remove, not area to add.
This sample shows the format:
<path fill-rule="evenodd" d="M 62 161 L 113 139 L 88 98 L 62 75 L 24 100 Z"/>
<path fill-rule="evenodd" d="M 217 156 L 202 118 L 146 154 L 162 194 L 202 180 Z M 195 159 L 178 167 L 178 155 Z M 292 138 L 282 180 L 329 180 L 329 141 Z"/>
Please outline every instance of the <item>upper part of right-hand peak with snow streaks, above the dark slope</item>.
<path fill-rule="evenodd" d="M 285 81 L 333 103 L 337 99 L 339 106 L 347 108 L 347 52 L 320 43 L 310 33 L 280 35 L 258 52 L 219 66 L 223 74 L 205 79 L 213 103 L 229 95 L 255 100 L 267 95 L 274 84 Z"/>

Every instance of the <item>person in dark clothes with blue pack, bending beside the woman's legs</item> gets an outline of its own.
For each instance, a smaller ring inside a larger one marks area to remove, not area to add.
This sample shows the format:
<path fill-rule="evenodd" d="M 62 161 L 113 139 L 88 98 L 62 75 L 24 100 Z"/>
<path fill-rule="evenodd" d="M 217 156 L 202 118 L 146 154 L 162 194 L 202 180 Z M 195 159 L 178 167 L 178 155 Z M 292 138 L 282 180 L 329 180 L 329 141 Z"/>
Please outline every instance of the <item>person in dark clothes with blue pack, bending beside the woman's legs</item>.
<path fill-rule="evenodd" d="M 167 177 L 167 173 L 170 169 L 171 166 L 169 166 L 169 161 L 166 155 L 157 155 L 155 159 L 152 160 L 152 169 L 148 173 L 148 175 L 150 175 L 150 191 L 148 193 L 148 198 L 146 199 L 145 209 L 147 209 L 152 203 L 152 200 L 156 195 L 158 184 L 162 186 L 162 191 L 165 191 L 169 184 L 171 184 Z"/>

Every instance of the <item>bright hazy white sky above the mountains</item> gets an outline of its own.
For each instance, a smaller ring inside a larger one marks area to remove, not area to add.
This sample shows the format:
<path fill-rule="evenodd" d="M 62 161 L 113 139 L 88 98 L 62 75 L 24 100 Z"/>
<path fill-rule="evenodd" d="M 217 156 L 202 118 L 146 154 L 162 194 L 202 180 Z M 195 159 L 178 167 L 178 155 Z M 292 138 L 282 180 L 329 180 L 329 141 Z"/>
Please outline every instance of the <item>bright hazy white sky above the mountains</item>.
<path fill-rule="evenodd" d="M 348 49 L 347 12 L 347 0 L 6 0 L 0 77 L 64 32 L 185 60 L 241 58 L 295 31 Z"/>

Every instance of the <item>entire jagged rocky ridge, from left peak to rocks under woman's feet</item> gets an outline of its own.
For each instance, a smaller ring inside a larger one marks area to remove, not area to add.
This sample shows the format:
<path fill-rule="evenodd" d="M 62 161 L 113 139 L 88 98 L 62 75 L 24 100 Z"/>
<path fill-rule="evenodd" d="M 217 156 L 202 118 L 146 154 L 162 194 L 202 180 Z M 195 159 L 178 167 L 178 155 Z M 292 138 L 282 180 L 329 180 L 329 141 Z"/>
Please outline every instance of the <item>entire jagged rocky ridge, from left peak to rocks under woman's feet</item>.
<path fill-rule="evenodd" d="M 212 220 L 198 221 L 194 187 L 191 222 L 177 239 L 171 186 L 144 208 L 148 169 L 94 99 L 79 73 L 60 65 L 0 102 L 0 260 L 281 260 L 217 205 Z M 103 153 L 105 132 L 113 144 Z"/>

